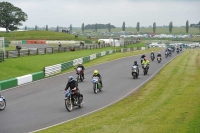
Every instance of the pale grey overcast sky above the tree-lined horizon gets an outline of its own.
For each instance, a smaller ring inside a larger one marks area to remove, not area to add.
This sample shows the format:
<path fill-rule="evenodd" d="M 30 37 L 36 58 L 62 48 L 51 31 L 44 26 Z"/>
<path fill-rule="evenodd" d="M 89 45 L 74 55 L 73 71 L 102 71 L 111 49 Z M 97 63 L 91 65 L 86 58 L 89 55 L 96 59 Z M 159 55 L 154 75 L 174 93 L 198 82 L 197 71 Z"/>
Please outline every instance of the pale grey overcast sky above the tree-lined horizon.
<path fill-rule="evenodd" d="M 4 1 L 4 0 L 3 0 Z M 7 0 L 28 15 L 24 26 L 81 27 L 82 23 L 121 27 L 169 25 L 200 21 L 200 0 Z"/>

